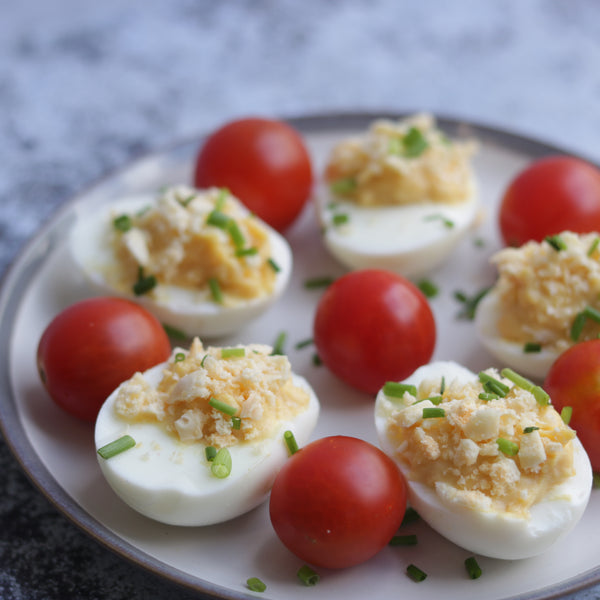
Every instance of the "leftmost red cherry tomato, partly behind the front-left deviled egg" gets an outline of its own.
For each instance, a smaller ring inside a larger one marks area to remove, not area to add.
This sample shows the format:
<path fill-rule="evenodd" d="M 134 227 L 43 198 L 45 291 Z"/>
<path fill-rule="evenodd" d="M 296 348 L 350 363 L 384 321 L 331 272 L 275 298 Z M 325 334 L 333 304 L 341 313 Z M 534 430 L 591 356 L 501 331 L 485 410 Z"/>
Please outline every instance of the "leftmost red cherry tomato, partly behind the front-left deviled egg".
<path fill-rule="evenodd" d="M 40 339 L 37 364 L 56 404 L 94 421 L 120 383 L 170 353 L 165 330 L 144 308 L 120 298 L 92 298 L 54 317 Z"/>

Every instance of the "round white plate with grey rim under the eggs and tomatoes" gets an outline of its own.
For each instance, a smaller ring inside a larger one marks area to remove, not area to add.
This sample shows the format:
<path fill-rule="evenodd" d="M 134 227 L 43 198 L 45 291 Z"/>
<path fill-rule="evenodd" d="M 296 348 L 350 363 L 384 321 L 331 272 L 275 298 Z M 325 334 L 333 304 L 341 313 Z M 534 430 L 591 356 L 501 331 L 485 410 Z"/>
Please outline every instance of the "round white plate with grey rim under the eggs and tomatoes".
<path fill-rule="evenodd" d="M 382 115 L 314 116 L 292 120 L 304 132 L 319 170 L 331 145 L 341 136 L 364 130 Z M 399 115 L 385 115 L 394 116 Z M 441 293 L 432 300 L 438 325 L 435 359 L 453 359 L 478 371 L 494 365 L 478 344 L 473 323 L 457 318 L 456 290 L 479 291 L 494 279 L 488 258 L 500 245 L 496 209 L 510 178 L 533 158 L 558 149 L 487 127 L 441 119 L 451 135 L 476 136 L 476 158 L 486 219 L 459 246 L 451 262 L 431 275 Z M 204 528 L 179 528 L 150 521 L 129 509 L 103 480 L 94 454 L 92 427 L 70 418 L 46 396 L 36 371 L 39 337 L 61 309 L 89 295 L 76 273 L 62 268 L 65 234 L 80 212 L 167 183 L 191 181 L 191 162 L 198 141 L 136 161 L 100 181 L 54 216 L 35 236 L 4 278 L 0 293 L 0 424 L 15 456 L 40 490 L 63 513 L 102 544 L 152 572 L 219 598 L 256 598 L 245 587 L 248 577 L 267 584 L 263 598 L 312 600 L 343 597 L 372 600 L 441 597 L 461 600 L 556 598 L 600 581 L 600 492 L 594 491 L 585 516 L 562 543 L 538 558 L 505 562 L 479 558 L 483 576 L 465 574 L 468 553 L 445 541 L 425 524 L 412 526 L 419 535 L 414 548 L 385 548 L 358 567 L 321 571 L 319 584 L 307 590 L 296 579 L 301 563 L 278 541 L 267 504 L 231 522 Z M 322 293 L 308 290 L 310 277 L 342 274 L 324 250 L 312 207 L 287 233 L 295 270 L 285 297 L 230 342 L 273 343 L 287 332 L 294 370 L 313 384 L 322 403 L 314 438 L 346 434 L 375 442 L 373 399 L 336 380 L 312 363 L 312 348 L 294 344 L 311 337 L 314 309 Z M 480 246 L 477 240 L 485 240 Z M 419 584 L 405 575 L 414 563 L 428 573 Z"/>

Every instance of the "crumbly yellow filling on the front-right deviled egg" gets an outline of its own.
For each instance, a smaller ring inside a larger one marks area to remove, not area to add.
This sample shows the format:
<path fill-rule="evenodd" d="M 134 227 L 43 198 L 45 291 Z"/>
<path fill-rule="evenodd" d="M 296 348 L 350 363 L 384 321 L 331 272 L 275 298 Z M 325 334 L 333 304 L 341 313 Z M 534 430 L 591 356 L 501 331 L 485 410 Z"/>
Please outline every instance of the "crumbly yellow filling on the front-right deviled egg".
<path fill-rule="evenodd" d="M 472 509 L 526 515 L 548 491 L 574 474 L 575 432 L 551 405 L 486 371 L 510 389 L 505 397 L 482 400 L 478 379 L 446 382 L 437 404 L 445 415 L 423 418 L 428 400 L 440 395 L 440 379 L 426 380 L 417 395 L 388 398 L 388 437 L 413 481 L 444 499 Z M 437 402 L 437 400 L 436 400 Z M 526 428 L 532 428 L 525 433 Z M 536 429 L 537 428 L 537 429 Z M 517 445 L 504 454 L 498 439 Z"/>

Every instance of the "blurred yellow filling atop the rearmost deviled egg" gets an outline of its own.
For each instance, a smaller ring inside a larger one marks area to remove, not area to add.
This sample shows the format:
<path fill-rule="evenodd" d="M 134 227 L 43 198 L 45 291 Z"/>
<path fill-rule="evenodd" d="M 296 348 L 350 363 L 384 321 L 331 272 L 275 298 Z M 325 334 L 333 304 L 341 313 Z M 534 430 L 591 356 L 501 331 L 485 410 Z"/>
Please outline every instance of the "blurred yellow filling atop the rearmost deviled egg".
<path fill-rule="evenodd" d="M 475 150 L 473 141 L 449 140 L 428 114 L 381 119 L 333 148 L 325 178 L 334 193 L 362 206 L 457 204 L 473 196 Z"/>

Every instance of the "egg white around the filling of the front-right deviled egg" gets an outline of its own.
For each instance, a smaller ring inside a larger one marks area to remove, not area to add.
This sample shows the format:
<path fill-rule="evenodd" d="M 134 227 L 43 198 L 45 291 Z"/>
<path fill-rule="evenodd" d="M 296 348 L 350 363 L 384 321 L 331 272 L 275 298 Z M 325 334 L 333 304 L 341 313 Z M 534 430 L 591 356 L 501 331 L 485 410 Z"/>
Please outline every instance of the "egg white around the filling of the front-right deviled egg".
<path fill-rule="evenodd" d="M 424 379 L 469 381 L 477 376 L 453 362 L 436 362 L 415 371 L 405 383 L 418 386 Z M 587 506 L 592 487 L 592 469 L 577 438 L 574 444 L 575 474 L 556 486 L 541 502 L 533 505 L 528 518 L 498 512 L 475 511 L 445 501 L 433 488 L 411 481 L 396 448 L 388 438 L 388 417 L 393 402 L 382 391 L 375 403 L 375 427 L 381 448 L 392 457 L 407 478 L 409 502 L 438 533 L 471 552 L 501 559 L 536 556 L 564 537 L 577 524 Z"/>

